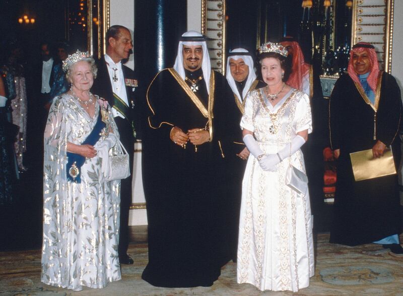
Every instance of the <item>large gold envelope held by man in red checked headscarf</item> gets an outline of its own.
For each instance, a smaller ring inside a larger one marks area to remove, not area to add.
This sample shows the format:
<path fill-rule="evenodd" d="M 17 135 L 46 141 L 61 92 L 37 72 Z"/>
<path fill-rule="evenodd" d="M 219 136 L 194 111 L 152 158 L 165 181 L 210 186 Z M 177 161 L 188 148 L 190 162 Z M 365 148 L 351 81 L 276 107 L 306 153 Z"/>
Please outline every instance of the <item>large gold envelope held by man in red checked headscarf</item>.
<path fill-rule="evenodd" d="M 396 173 L 391 149 L 385 149 L 383 156 L 380 158 L 373 158 L 372 149 L 350 153 L 350 158 L 356 181 Z"/>

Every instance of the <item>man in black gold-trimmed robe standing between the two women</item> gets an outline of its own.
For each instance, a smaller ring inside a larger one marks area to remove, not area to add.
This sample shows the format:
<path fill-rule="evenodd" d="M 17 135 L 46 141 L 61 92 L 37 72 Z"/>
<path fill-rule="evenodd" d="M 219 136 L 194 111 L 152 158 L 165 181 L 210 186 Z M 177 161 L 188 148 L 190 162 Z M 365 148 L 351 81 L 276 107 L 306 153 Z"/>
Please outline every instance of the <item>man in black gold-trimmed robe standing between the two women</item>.
<path fill-rule="evenodd" d="M 231 97 L 225 78 L 211 70 L 205 37 L 194 31 L 182 35 L 174 67 L 148 88 L 149 263 L 142 278 L 152 285 L 211 286 L 231 259 L 221 194 L 226 147 L 239 129 L 229 121 Z"/>

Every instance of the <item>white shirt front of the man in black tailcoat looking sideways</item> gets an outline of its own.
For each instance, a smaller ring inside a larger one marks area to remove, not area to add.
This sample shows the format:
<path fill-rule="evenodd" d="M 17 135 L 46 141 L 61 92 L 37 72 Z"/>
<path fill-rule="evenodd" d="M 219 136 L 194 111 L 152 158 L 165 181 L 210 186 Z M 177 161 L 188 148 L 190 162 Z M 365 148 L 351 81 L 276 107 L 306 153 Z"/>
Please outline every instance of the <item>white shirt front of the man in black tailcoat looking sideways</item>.
<path fill-rule="evenodd" d="M 112 58 L 107 54 L 105 54 L 105 62 L 106 62 L 106 65 L 108 66 L 109 79 L 110 79 L 110 83 L 112 84 L 113 93 L 118 95 L 119 98 L 121 98 L 122 101 L 125 102 L 125 104 L 127 106 L 129 106 L 128 99 L 127 99 L 127 93 L 126 93 L 126 87 L 124 85 L 122 63 L 119 61 L 119 63 L 115 64 L 112 61 Z M 114 71 L 113 69 L 117 69 L 117 70 Z M 113 75 L 115 73 L 116 73 L 116 77 L 117 77 L 116 82 L 113 81 Z M 111 108 L 111 112 L 112 112 L 113 117 L 120 116 L 120 117 L 124 118 L 123 114 L 120 113 L 115 108 Z"/>

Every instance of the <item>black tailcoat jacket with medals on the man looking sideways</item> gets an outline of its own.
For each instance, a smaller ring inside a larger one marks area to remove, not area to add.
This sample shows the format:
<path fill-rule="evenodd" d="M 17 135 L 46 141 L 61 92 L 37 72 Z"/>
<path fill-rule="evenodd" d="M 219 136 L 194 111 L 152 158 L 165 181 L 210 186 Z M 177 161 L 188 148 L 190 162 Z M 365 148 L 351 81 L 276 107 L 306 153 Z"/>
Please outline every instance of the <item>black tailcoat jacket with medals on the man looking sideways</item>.
<path fill-rule="evenodd" d="M 112 83 L 109 78 L 108 66 L 105 62 L 105 57 L 103 56 L 101 60 L 96 61 L 96 65 L 98 68 L 97 78 L 94 80 L 94 84 L 91 88 L 91 92 L 104 98 L 108 101 L 109 105 L 113 107 L 114 100 L 113 100 L 113 90 L 112 90 Z M 122 65 L 123 77 L 124 79 L 135 79 L 135 72 L 130 68 Z M 126 83 L 125 83 L 126 85 Z M 137 138 L 139 138 L 140 134 L 140 125 L 139 123 L 139 112 L 140 108 L 138 107 L 138 98 L 140 96 L 139 87 L 136 86 L 127 86 L 126 85 L 126 94 L 127 94 L 127 101 L 129 107 L 129 116 L 128 121 L 130 124 L 133 122 Z"/>

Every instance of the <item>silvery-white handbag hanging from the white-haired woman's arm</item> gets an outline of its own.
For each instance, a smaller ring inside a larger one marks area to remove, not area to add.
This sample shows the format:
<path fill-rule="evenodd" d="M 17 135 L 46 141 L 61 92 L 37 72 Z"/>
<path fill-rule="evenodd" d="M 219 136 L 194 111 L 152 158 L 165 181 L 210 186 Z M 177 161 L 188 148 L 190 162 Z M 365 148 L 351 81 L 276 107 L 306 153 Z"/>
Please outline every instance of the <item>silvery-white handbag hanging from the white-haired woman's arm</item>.
<path fill-rule="evenodd" d="M 126 179 L 130 175 L 129 155 L 120 140 L 117 141 L 116 144 L 120 147 L 114 149 L 117 151 L 116 155 L 109 155 L 106 181 Z"/>

